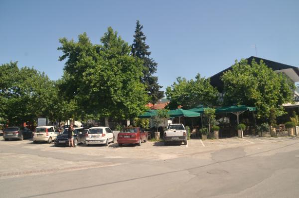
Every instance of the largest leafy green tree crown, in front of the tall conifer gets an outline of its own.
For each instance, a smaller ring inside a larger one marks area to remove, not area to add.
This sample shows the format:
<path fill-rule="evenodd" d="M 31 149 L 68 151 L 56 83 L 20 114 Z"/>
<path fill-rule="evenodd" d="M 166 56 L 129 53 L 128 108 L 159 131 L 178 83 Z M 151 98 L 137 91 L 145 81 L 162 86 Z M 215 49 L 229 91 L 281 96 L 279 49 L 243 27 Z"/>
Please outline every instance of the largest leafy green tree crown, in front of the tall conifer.
<path fill-rule="evenodd" d="M 81 116 L 129 119 L 140 115 L 149 101 L 143 76 L 143 61 L 130 55 L 131 47 L 111 27 L 92 44 L 86 33 L 78 42 L 61 38 L 66 60 L 60 90 L 73 100 Z"/>

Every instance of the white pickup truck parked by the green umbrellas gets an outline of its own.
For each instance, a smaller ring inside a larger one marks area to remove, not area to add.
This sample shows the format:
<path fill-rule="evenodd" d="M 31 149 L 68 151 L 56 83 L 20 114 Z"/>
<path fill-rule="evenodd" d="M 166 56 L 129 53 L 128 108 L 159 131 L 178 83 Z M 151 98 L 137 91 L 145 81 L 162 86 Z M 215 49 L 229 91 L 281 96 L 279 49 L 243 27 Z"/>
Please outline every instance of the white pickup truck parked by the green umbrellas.
<path fill-rule="evenodd" d="M 187 144 L 187 131 L 183 124 L 170 124 L 164 132 L 164 145 L 170 142 L 184 142 Z"/>

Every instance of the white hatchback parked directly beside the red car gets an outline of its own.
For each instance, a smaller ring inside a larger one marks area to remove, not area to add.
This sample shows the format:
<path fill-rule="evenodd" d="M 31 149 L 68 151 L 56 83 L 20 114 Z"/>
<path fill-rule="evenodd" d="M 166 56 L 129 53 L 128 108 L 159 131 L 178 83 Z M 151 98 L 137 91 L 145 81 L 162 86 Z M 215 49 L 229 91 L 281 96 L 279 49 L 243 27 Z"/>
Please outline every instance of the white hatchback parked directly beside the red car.
<path fill-rule="evenodd" d="M 114 134 L 108 127 L 92 127 L 85 135 L 85 144 L 105 144 L 114 143 Z"/>

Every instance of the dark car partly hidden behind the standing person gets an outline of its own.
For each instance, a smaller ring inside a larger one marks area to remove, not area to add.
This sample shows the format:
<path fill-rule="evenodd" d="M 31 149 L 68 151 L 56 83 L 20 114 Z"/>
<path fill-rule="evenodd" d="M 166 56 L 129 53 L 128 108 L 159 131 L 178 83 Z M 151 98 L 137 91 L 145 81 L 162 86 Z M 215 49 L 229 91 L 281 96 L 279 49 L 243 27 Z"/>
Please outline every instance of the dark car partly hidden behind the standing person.
<path fill-rule="evenodd" d="M 63 133 L 57 136 L 55 146 L 69 146 L 68 129 L 64 129 Z M 74 128 L 74 147 L 85 142 L 85 131 L 83 127 Z"/>

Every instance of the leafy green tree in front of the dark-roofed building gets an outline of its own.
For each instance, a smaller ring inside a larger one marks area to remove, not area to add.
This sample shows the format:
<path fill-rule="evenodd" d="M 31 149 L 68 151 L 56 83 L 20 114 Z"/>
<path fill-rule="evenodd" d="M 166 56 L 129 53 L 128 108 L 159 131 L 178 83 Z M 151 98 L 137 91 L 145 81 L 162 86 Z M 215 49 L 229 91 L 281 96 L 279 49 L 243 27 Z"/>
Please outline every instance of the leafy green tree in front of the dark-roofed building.
<path fill-rule="evenodd" d="M 292 102 L 294 82 L 283 73 L 276 73 L 261 61 L 259 64 L 246 59 L 235 62 L 232 70 L 224 72 L 224 104 L 242 104 L 257 107 L 257 117 L 267 120 L 271 109 L 275 115 L 283 115 L 282 104 Z"/>

